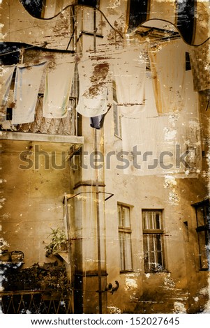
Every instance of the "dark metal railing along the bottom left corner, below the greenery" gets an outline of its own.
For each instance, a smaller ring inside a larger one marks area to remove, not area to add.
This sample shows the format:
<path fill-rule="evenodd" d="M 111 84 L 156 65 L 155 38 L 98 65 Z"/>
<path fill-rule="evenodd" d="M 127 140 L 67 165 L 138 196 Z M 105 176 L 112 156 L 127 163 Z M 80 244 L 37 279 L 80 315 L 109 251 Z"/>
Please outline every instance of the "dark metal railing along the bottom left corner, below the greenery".
<path fill-rule="evenodd" d="M 1 292 L 4 314 L 67 314 L 73 313 L 70 292 L 33 290 Z"/>

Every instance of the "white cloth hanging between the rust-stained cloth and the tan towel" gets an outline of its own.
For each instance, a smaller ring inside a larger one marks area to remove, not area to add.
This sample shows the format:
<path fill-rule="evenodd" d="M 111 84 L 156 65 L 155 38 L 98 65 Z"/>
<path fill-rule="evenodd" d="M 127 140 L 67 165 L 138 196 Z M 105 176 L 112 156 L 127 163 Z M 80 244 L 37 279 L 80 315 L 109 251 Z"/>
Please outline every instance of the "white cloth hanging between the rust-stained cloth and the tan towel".
<path fill-rule="evenodd" d="M 121 113 L 137 117 L 145 105 L 145 47 L 129 47 L 112 55 L 112 76 Z"/>

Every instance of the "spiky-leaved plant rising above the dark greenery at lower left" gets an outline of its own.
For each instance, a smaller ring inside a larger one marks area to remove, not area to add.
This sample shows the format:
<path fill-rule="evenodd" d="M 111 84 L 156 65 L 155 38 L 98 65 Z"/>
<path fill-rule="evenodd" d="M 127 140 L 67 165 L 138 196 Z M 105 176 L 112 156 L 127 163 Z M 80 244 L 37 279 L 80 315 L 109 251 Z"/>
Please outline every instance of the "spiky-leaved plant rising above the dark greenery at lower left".
<path fill-rule="evenodd" d="M 46 252 L 45 256 L 50 256 L 59 251 L 66 251 L 68 246 L 68 239 L 66 238 L 65 232 L 63 232 L 60 228 L 52 229 L 52 233 L 49 234 L 48 237 L 51 237 L 50 244 L 45 246 Z M 48 238 L 47 237 L 47 238 Z"/>

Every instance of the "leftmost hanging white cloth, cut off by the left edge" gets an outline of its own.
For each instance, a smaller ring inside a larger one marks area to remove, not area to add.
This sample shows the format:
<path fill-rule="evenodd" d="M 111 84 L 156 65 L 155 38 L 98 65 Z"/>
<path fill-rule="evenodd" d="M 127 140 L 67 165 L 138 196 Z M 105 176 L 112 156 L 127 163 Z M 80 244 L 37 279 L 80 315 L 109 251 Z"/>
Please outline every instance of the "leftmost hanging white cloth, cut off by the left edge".
<path fill-rule="evenodd" d="M 15 65 L 13 66 L 1 66 L 0 82 L 1 82 L 1 93 L 0 93 L 0 123 L 6 121 L 6 107 L 8 104 L 10 85 L 13 78 Z"/>

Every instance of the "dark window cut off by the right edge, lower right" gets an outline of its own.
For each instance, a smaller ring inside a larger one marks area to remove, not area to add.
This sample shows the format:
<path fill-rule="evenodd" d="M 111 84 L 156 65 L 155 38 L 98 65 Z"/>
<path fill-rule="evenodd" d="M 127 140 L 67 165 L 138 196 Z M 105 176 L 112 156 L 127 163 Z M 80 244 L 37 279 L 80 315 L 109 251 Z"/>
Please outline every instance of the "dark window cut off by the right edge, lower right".
<path fill-rule="evenodd" d="M 195 204 L 200 269 L 210 270 L 210 206 L 209 200 Z"/>

